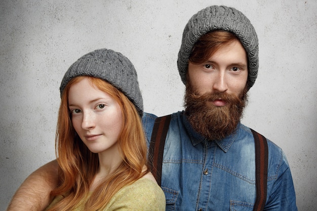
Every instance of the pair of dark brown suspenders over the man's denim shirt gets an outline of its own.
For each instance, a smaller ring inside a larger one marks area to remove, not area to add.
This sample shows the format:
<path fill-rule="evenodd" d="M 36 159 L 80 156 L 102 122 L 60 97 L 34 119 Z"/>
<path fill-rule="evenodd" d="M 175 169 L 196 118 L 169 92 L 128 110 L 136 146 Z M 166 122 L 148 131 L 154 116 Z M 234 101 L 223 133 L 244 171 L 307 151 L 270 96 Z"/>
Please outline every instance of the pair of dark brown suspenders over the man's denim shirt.
<path fill-rule="evenodd" d="M 149 152 L 149 166 L 157 184 L 161 186 L 162 162 L 165 138 L 169 129 L 171 115 L 155 119 Z M 264 136 L 251 129 L 255 142 L 255 186 L 256 200 L 253 210 L 263 210 L 266 202 L 268 147 Z"/>

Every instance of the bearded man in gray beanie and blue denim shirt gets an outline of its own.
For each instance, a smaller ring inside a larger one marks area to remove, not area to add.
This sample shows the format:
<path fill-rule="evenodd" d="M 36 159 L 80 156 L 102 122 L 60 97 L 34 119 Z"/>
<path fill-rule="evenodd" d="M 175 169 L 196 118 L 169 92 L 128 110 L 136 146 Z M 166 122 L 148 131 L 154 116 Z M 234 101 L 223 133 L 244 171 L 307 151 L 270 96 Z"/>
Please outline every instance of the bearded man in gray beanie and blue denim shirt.
<path fill-rule="evenodd" d="M 185 26 L 177 64 L 186 85 L 185 111 L 172 114 L 165 141 L 161 187 L 166 210 L 252 210 L 255 142 L 240 119 L 258 72 L 254 27 L 233 8 L 203 9 Z M 148 140 L 155 118 L 143 116 Z M 269 140 L 267 146 L 264 210 L 297 210 L 287 159 Z M 57 184 L 56 162 L 42 168 L 17 191 L 12 207 L 23 201 L 23 190 L 36 180 L 38 190 L 33 188 L 34 193 L 25 199 L 45 207 L 49 191 Z M 36 199 L 41 202 L 34 202 Z"/>

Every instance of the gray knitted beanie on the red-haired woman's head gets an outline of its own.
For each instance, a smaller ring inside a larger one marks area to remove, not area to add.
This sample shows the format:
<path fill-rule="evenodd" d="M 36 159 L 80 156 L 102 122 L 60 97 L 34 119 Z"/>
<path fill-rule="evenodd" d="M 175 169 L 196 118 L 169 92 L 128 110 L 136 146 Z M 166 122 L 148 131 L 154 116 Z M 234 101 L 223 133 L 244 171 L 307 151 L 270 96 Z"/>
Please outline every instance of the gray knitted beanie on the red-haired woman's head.
<path fill-rule="evenodd" d="M 143 100 L 137 73 L 127 57 L 107 49 L 99 49 L 82 56 L 66 71 L 59 88 L 61 96 L 72 78 L 83 75 L 101 78 L 111 83 L 128 97 L 142 116 Z"/>

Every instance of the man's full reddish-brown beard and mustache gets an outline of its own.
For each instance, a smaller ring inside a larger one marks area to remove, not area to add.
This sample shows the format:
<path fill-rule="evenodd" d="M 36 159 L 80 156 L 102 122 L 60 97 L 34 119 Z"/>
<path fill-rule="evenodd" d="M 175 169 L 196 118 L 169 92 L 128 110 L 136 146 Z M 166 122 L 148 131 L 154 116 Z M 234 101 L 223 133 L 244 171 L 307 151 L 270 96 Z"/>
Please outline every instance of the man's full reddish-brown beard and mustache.
<path fill-rule="evenodd" d="M 187 85 L 184 99 L 185 115 L 197 133 L 209 140 L 222 140 L 232 134 L 239 124 L 248 103 L 247 92 L 246 87 L 238 97 L 227 93 L 198 95 L 191 85 Z M 219 98 L 227 104 L 219 107 L 211 103 Z"/>

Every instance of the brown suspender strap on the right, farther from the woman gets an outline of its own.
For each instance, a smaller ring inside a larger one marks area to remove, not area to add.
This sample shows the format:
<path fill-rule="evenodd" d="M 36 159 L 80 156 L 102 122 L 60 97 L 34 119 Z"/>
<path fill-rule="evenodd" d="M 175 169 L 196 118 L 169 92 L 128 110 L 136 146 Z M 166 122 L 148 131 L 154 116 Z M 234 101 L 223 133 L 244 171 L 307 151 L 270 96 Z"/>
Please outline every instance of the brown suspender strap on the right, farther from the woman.
<path fill-rule="evenodd" d="M 253 131 L 255 142 L 255 186 L 256 200 L 253 210 L 263 210 L 266 202 L 268 148 L 264 136 Z"/>

